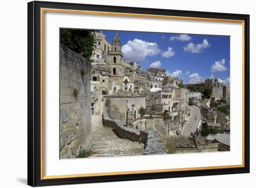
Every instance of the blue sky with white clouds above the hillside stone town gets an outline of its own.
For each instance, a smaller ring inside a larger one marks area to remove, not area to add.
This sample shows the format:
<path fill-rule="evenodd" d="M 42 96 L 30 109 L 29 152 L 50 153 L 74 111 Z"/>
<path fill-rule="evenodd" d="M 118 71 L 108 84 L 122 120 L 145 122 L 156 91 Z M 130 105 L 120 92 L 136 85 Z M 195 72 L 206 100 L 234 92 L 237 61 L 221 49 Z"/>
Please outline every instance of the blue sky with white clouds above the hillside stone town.
<path fill-rule="evenodd" d="M 102 31 L 111 43 L 116 31 Z M 184 83 L 216 76 L 229 85 L 229 36 L 118 31 L 124 60 L 165 68 Z"/>

